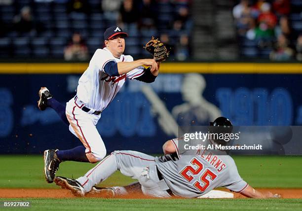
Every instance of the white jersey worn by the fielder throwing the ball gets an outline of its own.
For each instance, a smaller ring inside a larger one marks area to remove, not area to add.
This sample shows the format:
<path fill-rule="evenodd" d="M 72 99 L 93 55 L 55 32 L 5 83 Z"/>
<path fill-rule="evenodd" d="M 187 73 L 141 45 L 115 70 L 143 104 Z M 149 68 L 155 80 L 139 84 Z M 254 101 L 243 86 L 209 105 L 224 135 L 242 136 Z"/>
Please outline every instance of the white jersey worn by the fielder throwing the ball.
<path fill-rule="evenodd" d="M 144 67 L 141 66 L 120 76 L 109 76 L 105 73 L 104 67 L 110 61 L 132 62 L 133 57 L 121 55 L 119 59 L 115 58 L 106 47 L 96 50 L 87 70 L 78 81 L 76 93 L 80 103 L 88 108 L 103 111 L 112 102 L 127 78 L 133 80 L 145 72 Z"/>

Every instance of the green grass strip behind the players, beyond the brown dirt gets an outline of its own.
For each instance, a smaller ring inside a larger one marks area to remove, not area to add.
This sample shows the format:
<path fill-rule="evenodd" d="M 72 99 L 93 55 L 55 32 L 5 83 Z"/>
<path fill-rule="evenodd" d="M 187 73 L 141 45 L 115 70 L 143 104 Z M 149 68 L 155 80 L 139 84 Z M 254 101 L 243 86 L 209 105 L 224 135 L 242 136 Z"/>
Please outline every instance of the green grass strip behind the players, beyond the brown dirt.
<path fill-rule="evenodd" d="M 302 156 L 234 157 L 240 176 L 254 187 L 302 188 Z M 77 178 L 95 164 L 64 162 L 58 176 Z M 0 188 L 58 188 L 43 176 L 43 157 L 38 155 L 0 155 Z M 116 172 L 103 186 L 125 185 L 133 180 Z"/>

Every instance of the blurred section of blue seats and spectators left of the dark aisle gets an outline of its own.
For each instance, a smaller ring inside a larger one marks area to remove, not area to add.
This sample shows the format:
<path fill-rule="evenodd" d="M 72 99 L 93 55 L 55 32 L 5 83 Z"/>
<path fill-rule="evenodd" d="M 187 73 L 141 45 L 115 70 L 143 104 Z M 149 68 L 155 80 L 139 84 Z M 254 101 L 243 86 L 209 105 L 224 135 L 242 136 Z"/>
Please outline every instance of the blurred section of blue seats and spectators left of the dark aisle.
<path fill-rule="evenodd" d="M 7 40 L 12 57 L 34 54 L 84 61 L 103 47 L 103 32 L 113 25 L 129 34 L 125 53 L 146 57 L 142 46 L 154 35 L 168 46 L 172 59 L 184 61 L 190 56 L 189 0 L 0 0 L 0 9 L 0 51 L 8 49 Z M 9 20 L 11 12 L 15 14 Z M 23 50 L 18 50 L 22 47 L 20 37 L 25 40 Z M 53 39 L 59 40 L 57 50 L 52 50 Z M 38 50 L 37 40 L 45 40 L 50 50 Z"/>

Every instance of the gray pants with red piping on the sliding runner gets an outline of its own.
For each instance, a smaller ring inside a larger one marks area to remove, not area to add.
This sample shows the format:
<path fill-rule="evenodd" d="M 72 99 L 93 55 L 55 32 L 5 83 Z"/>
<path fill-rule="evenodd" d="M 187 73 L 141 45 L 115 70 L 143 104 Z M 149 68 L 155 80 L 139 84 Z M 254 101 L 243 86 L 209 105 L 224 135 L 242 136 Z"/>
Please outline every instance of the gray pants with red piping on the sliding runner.
<path fill-rule="evenodd" d="M 170 197 L 166 191 L 169 187 L 164 180 L 159 181 L 158 179 L 154 159 L 151 155 L 137 151 L 113 151 L 93 169 L 89 170 L 85 176 L 76 180 L 81 183 L 86 192 L 89 192 L 92 186 L 99 184 L 119 170 L 123 175 L 137 179 L 142 185 L 142 191 L 145 195 Z"/>

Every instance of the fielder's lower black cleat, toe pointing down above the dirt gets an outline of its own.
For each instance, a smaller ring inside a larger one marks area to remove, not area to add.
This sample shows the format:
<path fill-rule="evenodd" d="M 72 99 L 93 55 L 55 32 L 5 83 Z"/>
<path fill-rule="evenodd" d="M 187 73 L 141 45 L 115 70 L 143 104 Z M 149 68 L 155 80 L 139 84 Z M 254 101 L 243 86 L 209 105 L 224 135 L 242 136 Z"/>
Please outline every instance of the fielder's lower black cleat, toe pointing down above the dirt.
<path fill-rule="evenodd" d="M 44 151 L 44 174 L 48 183 L 53 182 L 60 163 L 55 150 L 47 149 Z"/>

